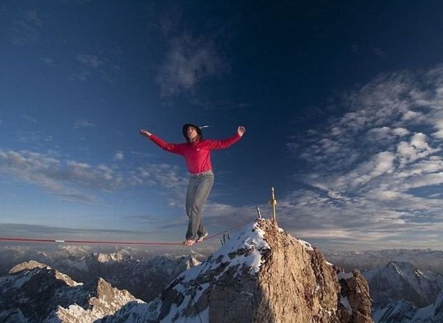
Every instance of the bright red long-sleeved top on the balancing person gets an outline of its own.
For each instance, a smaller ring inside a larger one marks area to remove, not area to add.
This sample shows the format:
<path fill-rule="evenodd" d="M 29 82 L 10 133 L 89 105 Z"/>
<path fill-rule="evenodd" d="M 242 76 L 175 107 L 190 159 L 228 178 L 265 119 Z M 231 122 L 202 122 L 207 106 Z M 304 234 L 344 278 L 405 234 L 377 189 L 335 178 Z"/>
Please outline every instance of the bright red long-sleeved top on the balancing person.
<path fill-rule="evenodd" d="M 241 136 L 234 136 L 224 140 L 197 140 L 187 143 L 168 143 L 156 135 L 149 137 L 161 148 L 182 155 L 185 158 L 186 166 L 189 173 L 196 174 L 212 170 L 211 150 L 228 148 L 235 142 L 239 141 Z"/>

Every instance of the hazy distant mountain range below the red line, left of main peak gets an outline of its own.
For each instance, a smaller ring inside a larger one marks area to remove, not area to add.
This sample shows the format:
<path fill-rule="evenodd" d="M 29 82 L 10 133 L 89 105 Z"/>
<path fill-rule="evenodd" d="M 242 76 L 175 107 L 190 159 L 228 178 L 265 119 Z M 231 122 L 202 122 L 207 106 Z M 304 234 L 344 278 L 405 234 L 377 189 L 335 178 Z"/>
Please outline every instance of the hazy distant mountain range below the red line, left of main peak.
<path fill-rule="evenodd" d="M 198 265 L 200 261 L 196 257 L 204 258 L 192 252 L 182 256 L 137 257 L 134 256 L 137 252 L 130 249 L 108 254 L 87 253 L 82 248 L 60 248 L 51 252 L 28 252 L 20 248 L 8 250 L 14 254 L 16 263 L 34 259 L 57 268 L 76 281 L 87 282 L 100 277 L 144 301 L 154 299 L 178 274 Z M 6 263 L 11 263 L 11 260 Z"/>

